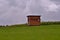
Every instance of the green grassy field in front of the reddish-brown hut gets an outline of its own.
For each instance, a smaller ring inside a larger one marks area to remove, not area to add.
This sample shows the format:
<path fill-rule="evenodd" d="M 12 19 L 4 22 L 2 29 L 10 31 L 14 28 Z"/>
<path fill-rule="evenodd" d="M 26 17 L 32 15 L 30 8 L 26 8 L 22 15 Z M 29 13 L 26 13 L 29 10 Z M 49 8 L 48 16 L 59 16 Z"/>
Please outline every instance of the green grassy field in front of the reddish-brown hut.
<path fill-rule="evenodd" d="M 0 40 L 60 40 L 60 25 L 0 27 Z"/>

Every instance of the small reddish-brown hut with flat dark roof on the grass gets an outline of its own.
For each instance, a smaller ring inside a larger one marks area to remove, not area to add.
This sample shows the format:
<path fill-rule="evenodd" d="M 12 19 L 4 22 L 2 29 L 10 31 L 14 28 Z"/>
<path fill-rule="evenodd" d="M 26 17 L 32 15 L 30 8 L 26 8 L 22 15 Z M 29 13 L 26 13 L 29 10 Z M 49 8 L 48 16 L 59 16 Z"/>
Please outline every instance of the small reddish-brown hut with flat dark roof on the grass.
<path fill-rule="evenodd" d="M 41 22 L 40 17 L 41 16 L 38 16 L 38 15 L 29 15 L 29 16 L 27 16 L 28 25 L 30 25 L 30 26 L 39 26 L 40 22 Z"/>

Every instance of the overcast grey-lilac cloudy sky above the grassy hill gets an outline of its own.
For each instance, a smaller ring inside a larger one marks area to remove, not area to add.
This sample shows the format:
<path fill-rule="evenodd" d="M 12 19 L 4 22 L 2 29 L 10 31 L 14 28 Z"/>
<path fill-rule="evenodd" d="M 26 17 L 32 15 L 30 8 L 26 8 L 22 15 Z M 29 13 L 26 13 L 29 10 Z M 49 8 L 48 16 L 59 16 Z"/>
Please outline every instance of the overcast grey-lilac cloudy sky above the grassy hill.
<path fill-rule="evenodd" d="M 42 21 L 60 20 L 60 0 L 0 0 L 0 25 L 26 23 L 29 14 Z"/>

